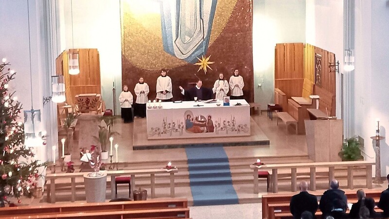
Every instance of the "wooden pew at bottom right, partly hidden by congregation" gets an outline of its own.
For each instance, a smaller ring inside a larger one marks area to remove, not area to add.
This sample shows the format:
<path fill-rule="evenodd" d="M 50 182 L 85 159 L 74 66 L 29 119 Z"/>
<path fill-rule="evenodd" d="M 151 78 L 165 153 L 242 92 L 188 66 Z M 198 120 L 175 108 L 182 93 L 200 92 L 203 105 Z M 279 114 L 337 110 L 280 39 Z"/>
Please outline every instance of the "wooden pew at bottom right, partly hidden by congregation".
<path fill-rule="evenodd" d="M 366 197 L 373 198 L 378 201 L 381 195 L 381 190 L 365 190 Z M 263 219 L 275 219 L 275 218 L 288 218 L 292 214 L 289 211 L 289 203 L 292 196 L 297 193 L 284 193 L 284 194 L 268 194 L 262 196 L 262 218 Z M 323 192 L 315 191 L 310 194 L 321 196 Z M 345 193 L 349 203 L 357 202 L 356 190 L 346 191 Z M 379 212 L 379 210 L 377 210 Z M 318 210 L 316 216 L 321 215 Z"/>

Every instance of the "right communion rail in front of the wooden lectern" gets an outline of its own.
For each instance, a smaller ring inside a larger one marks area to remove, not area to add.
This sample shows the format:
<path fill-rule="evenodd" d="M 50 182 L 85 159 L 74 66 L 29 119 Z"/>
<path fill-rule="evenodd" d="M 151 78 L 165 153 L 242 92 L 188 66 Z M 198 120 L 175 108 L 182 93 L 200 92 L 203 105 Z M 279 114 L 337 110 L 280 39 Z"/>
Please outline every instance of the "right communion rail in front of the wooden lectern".
<path fill-rule="evenodd" d="M 272 174 L 272 192 L 278 192 L 278 170 L 279 169 L 290 169 L 291 170 L 291 191 L 296 191 L 297 188 L 297 168 L 309 168 L 310 172 L 310 189 L 316 190 L 316 168 L 317 167 L 328 167 L 328 184 L 335 178 L 335 167 L 347 167 L 347 185 L 348 188 L 354 189 L 354 167 L 362 166 L 366 167 L 366 187 L 372 187 L 371 179 L 371 167 L 375 164 L 369 161 L 344 161 L 344 162 L 312 162 L 312 163 L 295 163 L 295 164 L 265 164 L 262 165 L 262 169 L 271 169 Z M 254 174 L 258 172 L 258 168 L 250 166 L 250 169 L 254 171 Z M 254 188 L 255 184 L 258 183 L 258 178 L 254 177 Z M 255 192 L 255 190 L 254 190 Z"/>

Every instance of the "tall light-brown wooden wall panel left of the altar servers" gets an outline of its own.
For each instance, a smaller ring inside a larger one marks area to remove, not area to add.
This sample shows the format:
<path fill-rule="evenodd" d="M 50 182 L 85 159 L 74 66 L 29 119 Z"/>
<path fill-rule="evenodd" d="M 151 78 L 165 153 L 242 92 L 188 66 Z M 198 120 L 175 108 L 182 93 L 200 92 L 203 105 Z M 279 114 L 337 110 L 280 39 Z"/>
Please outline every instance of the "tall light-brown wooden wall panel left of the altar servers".
<path fill-rule="evenodd" d="M 56 73 L 63 73 L 65 94 L 68 105 L 74 105 L 74 96 L 80 93 L 100 93 L 100 56 L 97 49 L 72 49 L 78 52 L 80 73 L 69 74 L 68 51 L 64 51 L 56 59 Z"/>

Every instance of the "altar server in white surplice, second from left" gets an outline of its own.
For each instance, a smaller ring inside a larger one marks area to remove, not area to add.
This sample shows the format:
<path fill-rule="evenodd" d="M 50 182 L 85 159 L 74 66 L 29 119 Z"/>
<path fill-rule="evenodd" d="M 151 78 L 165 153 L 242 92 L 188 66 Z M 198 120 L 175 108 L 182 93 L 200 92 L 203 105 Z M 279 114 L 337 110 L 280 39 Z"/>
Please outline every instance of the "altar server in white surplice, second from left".
<path fill-rule="evenodd" d="M 146 117 L 146 104 L 148 101 L 147 95 L 149 94 L 149 86 L 144 82 L 144 79 L 139 78 L 139 83 L 135 85 L 134 89 L 137 100 L 135 101 L 134 114 L 135 116 L 144 118 Z"/>

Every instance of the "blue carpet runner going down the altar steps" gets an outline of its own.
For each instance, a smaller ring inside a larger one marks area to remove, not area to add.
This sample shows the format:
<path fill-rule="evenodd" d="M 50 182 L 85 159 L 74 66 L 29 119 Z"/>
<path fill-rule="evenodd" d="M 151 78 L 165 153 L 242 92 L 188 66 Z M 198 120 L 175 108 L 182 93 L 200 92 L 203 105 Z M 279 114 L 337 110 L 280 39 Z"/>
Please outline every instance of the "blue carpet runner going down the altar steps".
<path fill-rule="evenodd" d="M 187 146 L 185 151 L 193 205 L 238 204 L 223 146 Z"/>

